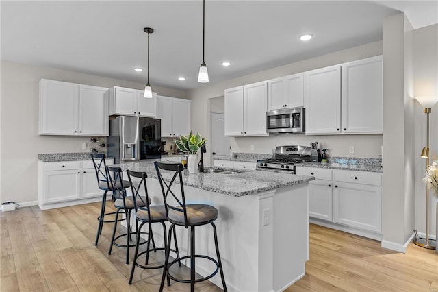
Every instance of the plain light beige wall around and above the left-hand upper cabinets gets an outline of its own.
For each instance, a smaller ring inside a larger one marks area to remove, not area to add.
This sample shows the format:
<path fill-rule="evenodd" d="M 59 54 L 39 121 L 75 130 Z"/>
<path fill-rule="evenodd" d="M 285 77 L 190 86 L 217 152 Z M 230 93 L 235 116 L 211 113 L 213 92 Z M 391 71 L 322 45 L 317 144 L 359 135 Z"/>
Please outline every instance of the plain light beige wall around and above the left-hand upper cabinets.
<path fill-rule="evenodd" d="M 36 202 L 37 154 L 82 152 L 90 137 L 38 136 L 38 82 L 41 78 L 94 86 L 143 89 L 144 84 L 1 60 L 0 202 Z M 153 86 L 159 95 L 185 98 L 185 92 Z"/>

